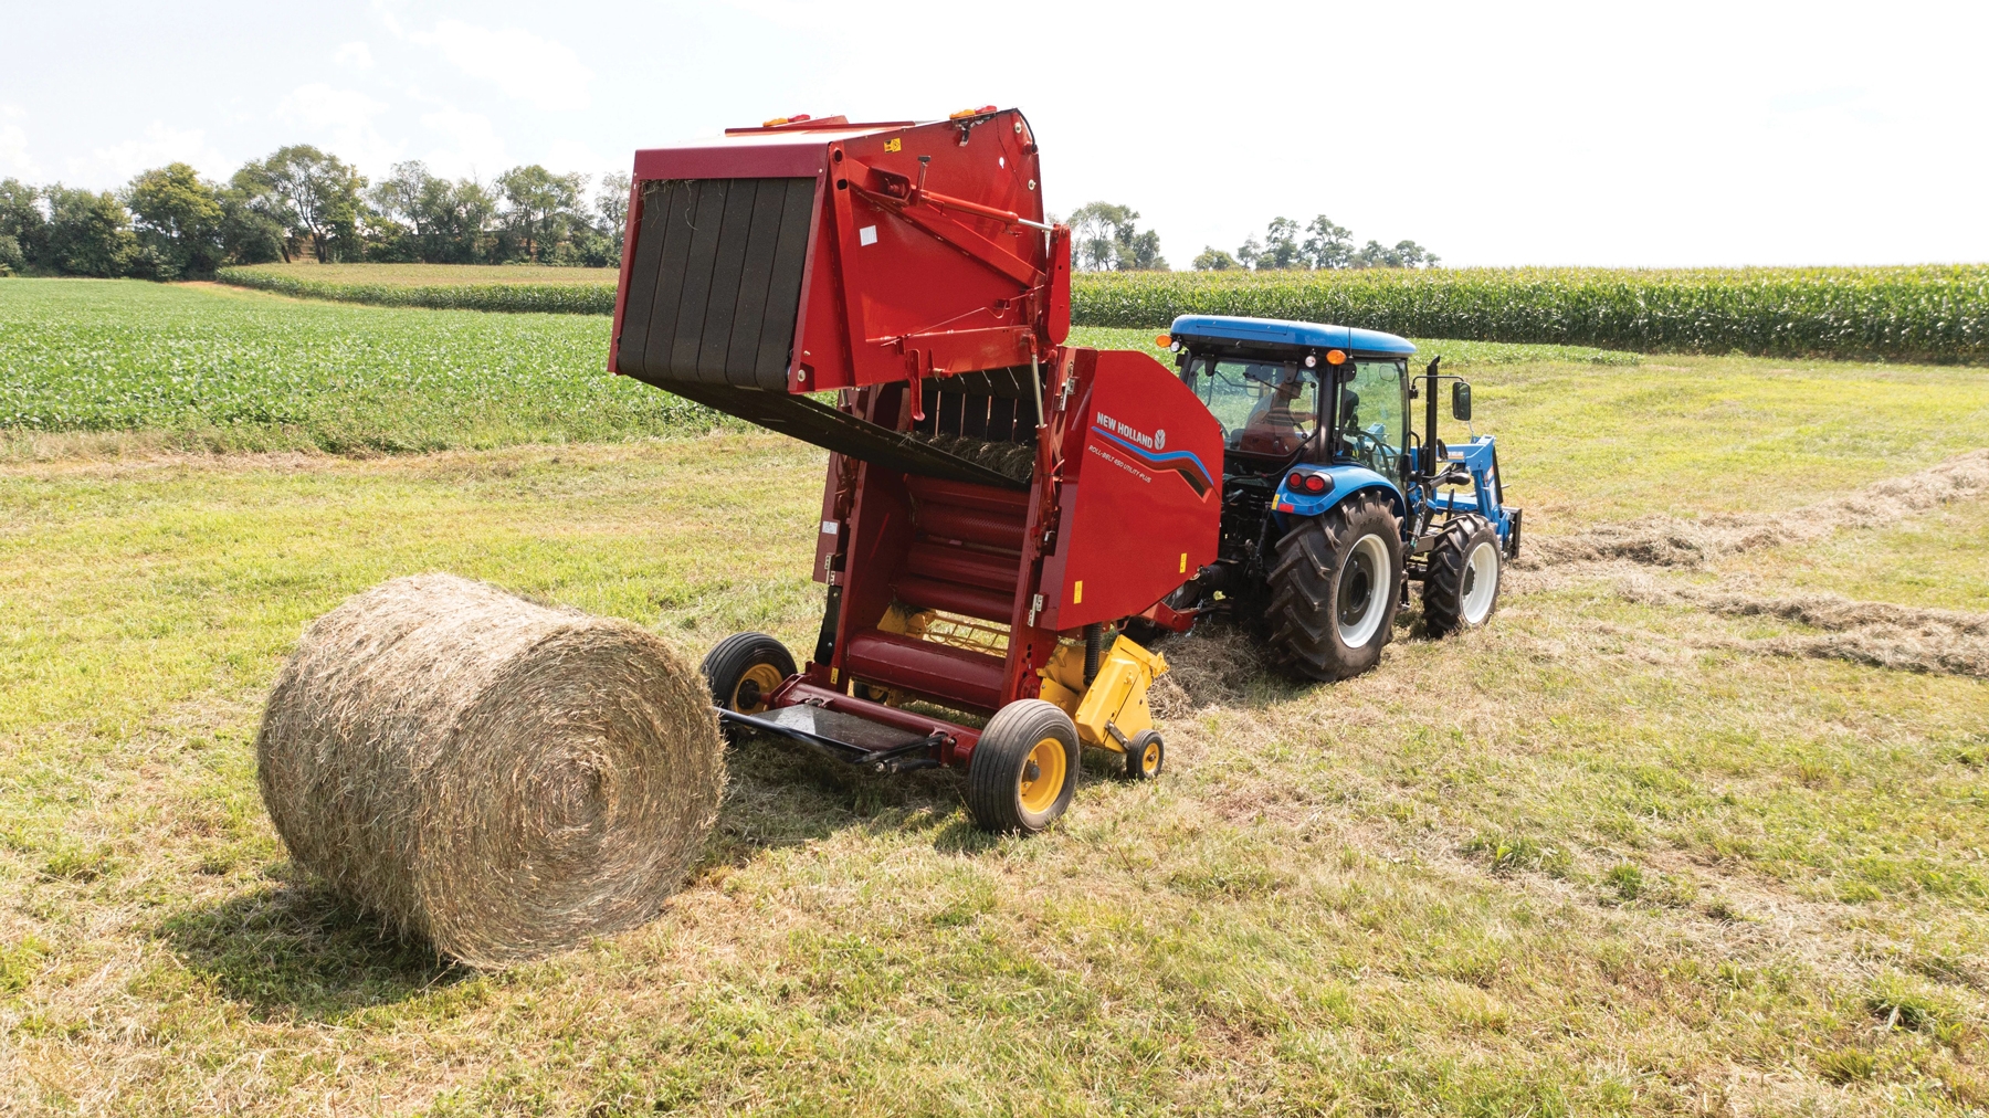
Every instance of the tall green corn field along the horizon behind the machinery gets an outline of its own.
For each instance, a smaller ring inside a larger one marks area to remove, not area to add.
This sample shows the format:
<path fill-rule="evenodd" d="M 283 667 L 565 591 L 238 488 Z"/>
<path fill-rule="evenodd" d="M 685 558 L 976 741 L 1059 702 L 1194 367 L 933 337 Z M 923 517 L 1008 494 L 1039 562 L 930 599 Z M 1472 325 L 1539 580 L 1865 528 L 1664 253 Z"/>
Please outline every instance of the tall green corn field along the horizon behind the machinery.
<path fill-rule="evenodd" d="M 374 273 L 380 267 L 370 267 Z M 316 275 L 336 267 L 310 269 Z M 223 269 L 221 280 L 300 298 L 611 314 L 607 282 L 378 282 Z M 1080 326 L 1164 330 L 1177 314 L 1249 314 L 1410 338 L 1637 352 L 1989 364 L 1989 265 L 1898 269 L 1432 269 L 1333 273 L 1084 273 Z"/>

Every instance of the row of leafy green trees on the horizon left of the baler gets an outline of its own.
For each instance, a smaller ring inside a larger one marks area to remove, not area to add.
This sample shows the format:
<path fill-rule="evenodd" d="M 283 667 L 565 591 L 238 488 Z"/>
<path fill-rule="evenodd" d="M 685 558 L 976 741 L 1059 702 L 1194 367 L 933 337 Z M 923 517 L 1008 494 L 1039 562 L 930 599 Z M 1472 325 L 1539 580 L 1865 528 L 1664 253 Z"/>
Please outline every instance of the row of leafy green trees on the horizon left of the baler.
<path fill-rule="evenodd" d="M 585 175 L 531 163 L 489 183 L 444 179 L 420 161 L 378 183 L 346 161 L 296 143 L 235 171 L 227 183 L 185 163 L 133 177 L 119 191 L 0 181 L 0 275 L 185 279 L 225 265 L 621 263 L 629 175 Z"/>

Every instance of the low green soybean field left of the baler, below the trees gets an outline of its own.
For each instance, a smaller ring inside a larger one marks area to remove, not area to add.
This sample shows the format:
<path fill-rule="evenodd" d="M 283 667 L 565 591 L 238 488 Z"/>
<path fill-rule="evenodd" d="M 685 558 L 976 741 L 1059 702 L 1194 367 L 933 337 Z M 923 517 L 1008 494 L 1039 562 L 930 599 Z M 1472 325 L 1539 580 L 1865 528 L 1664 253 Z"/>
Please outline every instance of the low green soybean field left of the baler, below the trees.
<path fill-rule="evenodd" d="M 607 372 L 607 322 L 298 302 L 141 280 L 0 284 L 0 430 L 332 454 L 708 430 Z"/>

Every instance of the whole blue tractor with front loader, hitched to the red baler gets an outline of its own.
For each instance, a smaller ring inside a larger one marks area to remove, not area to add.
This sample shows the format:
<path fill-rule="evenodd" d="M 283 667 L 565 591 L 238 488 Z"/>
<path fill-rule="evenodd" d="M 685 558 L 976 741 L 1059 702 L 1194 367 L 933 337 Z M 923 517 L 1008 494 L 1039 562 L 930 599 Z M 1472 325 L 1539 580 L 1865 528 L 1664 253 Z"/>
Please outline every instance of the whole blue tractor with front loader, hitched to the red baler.
<path fill-rule="evenodd" d="M 1223 426 L 1217 561 L 1164 603 L 1229 613 L 1295 676 L 1339 680 L 1380 660 L 1408 583 L 1430 637 L 1484 625 L 1522 509 L 1506 507 L 1492 436 L 1448 446 L 1436 396 L 1470 424 L 1472 390 L 1378 330 L 1187 314 L 1168 344 Z M 1422 430 L 1414 426 L 1422 404 Z"/>

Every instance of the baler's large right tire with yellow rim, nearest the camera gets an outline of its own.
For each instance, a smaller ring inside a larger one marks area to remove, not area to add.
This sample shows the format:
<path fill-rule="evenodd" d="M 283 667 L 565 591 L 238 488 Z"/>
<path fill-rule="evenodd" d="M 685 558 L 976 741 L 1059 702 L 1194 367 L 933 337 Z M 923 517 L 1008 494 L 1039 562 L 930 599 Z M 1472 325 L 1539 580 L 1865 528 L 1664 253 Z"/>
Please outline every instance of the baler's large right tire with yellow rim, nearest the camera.
<path fill-rule="evenodd" d="M 1078 726 L 1070 716 L 1054 702 L 1018 698 L 981 730 L 967 764 L 967 814 L 985 832 L 1036 834 L 1070 808 L 1078 760 Z M 1046 778 L 1058 784 L 1038 788 Z"/>

